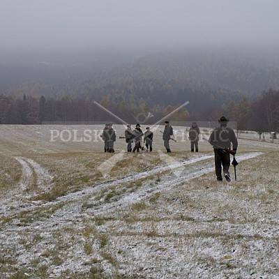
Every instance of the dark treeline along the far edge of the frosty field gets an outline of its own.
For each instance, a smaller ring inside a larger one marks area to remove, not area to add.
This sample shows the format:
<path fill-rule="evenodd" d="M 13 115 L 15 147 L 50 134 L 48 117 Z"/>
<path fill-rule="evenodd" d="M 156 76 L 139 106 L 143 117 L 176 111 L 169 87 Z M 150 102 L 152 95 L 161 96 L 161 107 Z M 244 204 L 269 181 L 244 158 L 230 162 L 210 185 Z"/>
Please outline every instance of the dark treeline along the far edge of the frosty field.
<path fill-rule="evenodd" d="M 121 95 L 119 95 L 121 96 Z M 116 114 L 128 123 L 144 121 L 144 123 L 155 123 L 163 116 L 169 114 L 179 107 L 177 105 L 150 105 L 144 98 L 135 100 L 130 94 L 128 99 L 110 98 L 106 96 L 100 100 L 100 105 Z M 165 96 L 166 97 L 166 96 Z M 210 95 L 196 96 L 203 99 L 200 109 L 188 110 L 188 107 L 173 114 L 171 121 L 216 121 L 225 115 L 230 120 L 237 122 L 238 130 L 256 130 L 259 132 L 270 132 L 279 130 L 279 91 L 269 89 L 264 91 L 255 100 L 243 97 L 239 101 L 223 103 L 216 107 L 206 102 Z M 186 98 L 188 100 L 188 98 Z M 146 122 L 149 116 L 152 117 Z M 100 123 L 111 120 L 117 123 L 113 116 L 103 111 L 93 100 L 89 98 L 34 98 L 26 96 L 14 99 L 0 95 L 0 123 L 1 124 L 42 124 L 46 122 L 90 122 Z"/>

